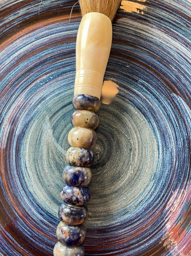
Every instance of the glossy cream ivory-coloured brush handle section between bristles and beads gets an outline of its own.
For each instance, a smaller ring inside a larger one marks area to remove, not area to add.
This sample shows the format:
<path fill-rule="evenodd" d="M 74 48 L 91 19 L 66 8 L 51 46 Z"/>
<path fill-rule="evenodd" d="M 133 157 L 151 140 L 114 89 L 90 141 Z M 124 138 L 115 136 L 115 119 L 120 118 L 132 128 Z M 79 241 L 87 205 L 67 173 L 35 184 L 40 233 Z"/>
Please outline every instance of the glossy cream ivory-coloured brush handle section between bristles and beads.
<path fill-rule="evenodd" d="M 102 13 L 85 14 L 76 39 L 76 76 L 74 96 L 101 97 L 103 76 L 110 55 L 112 26 Z"/>

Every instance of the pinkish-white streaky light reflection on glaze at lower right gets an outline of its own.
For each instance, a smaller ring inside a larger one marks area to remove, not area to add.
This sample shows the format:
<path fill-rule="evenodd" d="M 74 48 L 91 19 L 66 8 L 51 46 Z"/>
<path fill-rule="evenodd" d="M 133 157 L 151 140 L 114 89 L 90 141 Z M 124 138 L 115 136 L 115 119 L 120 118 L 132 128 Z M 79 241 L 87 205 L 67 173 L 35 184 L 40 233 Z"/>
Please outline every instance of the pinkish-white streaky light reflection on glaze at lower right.
<path fill-rule="evenodd" d="M 164 245 L 171 248 L 173 256 L 187 256 L 191 252 L 191 183 L 185 182 L 184 189 L 173 192 L 166 210 L 171 209 L 166 222 Z M 186 241 L 186 244 L 185 242 Z"/>

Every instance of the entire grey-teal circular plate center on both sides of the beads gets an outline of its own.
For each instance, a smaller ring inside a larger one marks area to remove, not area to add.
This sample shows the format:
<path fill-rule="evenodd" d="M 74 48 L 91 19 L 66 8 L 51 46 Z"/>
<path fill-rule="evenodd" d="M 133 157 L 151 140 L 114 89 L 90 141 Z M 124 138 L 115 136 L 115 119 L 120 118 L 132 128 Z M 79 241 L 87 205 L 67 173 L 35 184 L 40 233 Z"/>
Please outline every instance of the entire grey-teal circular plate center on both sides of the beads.
<path fill-rule="evenodd" d="M 67 134 L 72 128 L 72 92 L 69 97 L 68 92 L 49 94 L 46 100 L 27 126 L 21 153 L 27 188 L 39 205 L 57 217 Z M 88 227 L 122 221 L 138 211 L 152 190 L 158 164 L 152 129 L 129 100 L 117 96 L 115 103 L 102 105 L 98 115 Z"/>

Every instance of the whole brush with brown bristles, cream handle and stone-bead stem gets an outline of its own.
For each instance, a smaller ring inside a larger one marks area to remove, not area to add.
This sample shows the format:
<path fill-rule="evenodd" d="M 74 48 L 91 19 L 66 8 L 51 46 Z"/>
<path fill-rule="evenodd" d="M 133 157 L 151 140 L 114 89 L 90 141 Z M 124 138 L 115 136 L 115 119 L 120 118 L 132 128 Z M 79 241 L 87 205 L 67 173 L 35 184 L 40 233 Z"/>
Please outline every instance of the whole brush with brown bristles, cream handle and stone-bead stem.
<path fill-rule="evenodd" d="M 103 76 L 110 55 L 112 41 L 111 20 L 120 0 L 79 0 L 82 19 L 76 40 L 76 76 L 71 117 L 74 126 L 68 134 L 70 148 L 66 153 L 68 165 L 63 171 L 66 183 L 61 190 L 64 201 L 59 208 L 60 223 L 54 256 L 83 256 L 88 217 L 85 204 L 90 198 L 87 187 L 91 179 L 90 166 L 94 161 L 91 149 L 99 124 L 96 112 L 100 108 Z"/>

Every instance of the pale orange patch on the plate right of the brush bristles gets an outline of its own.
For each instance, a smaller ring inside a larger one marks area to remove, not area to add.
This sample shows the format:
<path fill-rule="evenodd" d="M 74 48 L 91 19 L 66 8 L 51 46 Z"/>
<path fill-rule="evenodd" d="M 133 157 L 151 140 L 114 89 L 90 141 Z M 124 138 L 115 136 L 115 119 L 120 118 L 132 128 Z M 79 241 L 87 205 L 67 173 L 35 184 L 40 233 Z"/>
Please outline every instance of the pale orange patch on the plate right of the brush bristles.
<path fill-rule="evenodd" d="M 139 2 L 145 2 L 146 0 L 138 0 Z M 136 2 L 131 2 L 131 1 L 127 1 L 127 0 L 123 0 L 121 2 L 121 9 L 123 9 L 125 12 L 137 12 L 137 13 L 141 13 L 144 14 L 144 10 L 147 9 L 147 7 L 144 4 L 139 4 Z"/>

